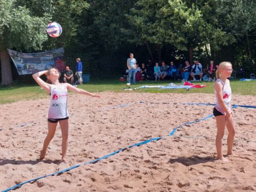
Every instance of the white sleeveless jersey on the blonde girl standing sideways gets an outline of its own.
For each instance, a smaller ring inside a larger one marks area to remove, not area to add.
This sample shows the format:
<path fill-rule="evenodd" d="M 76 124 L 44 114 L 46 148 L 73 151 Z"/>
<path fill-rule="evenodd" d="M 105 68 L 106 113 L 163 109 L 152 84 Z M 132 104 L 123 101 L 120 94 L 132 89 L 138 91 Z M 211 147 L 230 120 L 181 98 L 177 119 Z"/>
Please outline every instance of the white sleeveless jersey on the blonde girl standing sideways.
<path fill-rule="evenodd" d="M 220 78 L 217 79 L 216 82 L 221 82 L 221 84 L 223 85 L 223 89 L 222 89 L 222 98 L 223 101 L 225 102 L 225 105 L 228 108 L 229 113 L 231 113 L 231 87 L 229 84 L 229 80 L 227 79 L 226 83 L 223 82 Z M 216 95 L 216 91 L 215 92 L 215 96 L 216 96 L 216 105 L 215 108 L 220 111 L 220 113 L 226 115 L 225 111 L 221 108 L 220 103 L 218 101 L 217 95 Z"/>

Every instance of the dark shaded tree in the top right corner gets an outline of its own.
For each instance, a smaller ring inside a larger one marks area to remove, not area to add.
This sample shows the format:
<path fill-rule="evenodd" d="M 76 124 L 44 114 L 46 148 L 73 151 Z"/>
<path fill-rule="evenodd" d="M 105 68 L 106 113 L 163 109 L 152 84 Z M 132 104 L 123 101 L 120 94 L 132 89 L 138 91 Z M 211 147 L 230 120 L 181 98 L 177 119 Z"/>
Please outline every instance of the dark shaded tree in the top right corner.
<path fill-rule="evenodd" d="M 255 67 L 256 58 L 256 2 L 254 0 L 219 1 L 218 18 L 223 30 L 233 36 L 237 47 L 234 54 L 246 52 L 242 58 L 248 58 L 249 68 Z M 254 66 L 254 67 L 253 67 Z"/>

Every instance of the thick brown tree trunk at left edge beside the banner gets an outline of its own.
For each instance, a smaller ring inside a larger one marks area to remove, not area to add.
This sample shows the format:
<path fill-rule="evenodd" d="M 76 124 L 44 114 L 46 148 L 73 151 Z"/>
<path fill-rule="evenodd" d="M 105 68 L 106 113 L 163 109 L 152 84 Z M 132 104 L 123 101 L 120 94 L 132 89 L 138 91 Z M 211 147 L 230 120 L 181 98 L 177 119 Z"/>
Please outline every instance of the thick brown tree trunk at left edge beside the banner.
<path fill-rule="evenodd" d="M 1 50 L 0 58 L 2 85 L 10 85 L 12 83 L 12 69 L 9 54 L 6 49 Z"/>

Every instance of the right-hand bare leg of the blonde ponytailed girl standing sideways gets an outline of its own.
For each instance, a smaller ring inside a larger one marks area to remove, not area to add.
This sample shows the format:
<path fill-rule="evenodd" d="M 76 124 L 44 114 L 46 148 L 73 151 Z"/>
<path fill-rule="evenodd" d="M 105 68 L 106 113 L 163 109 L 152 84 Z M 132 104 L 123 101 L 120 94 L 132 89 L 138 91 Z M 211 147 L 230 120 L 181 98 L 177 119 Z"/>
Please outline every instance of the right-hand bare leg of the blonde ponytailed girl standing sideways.
<path fill-rule="evenodd" d="M 234 143 L 234 138 L 235 138 L 235 123 L 234 123 L 233 115 L 231 115 L 226 120 L 226 126 L 228 129 L 228 139 L 227 139 L 228 155 L 234 155 L 233 143 Z"/>

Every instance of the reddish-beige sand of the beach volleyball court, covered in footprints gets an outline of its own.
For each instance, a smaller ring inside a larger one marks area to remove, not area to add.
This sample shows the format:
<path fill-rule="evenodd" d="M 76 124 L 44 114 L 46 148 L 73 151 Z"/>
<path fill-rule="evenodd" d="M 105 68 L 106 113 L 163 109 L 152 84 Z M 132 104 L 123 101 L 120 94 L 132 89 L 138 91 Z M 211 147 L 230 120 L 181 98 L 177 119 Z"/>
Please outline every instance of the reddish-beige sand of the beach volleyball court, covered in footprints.
<path fill-rule="evenodd" d="M 70 94 L 69 147 L 61 163 L 58 125 L 46 157 L 49 99 L 19 101 L 0 109 L 0 190 L 85 163 L 151 138 L 94 164 L 26 183 L 15 191 L 255 191 L 256 109 L 234 109 L 236 137 L 229 162 L 215 159 L 214 94 L 99 93 L 102 99 Z M 233 95 L 233 104 L 255 106 L 256 97 Z M 227 153 L 227 130 L 223 154 Z M 253 142 L 254 141 L 254 142 Z"/>

